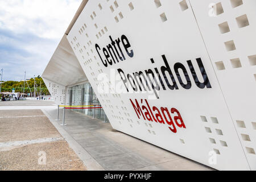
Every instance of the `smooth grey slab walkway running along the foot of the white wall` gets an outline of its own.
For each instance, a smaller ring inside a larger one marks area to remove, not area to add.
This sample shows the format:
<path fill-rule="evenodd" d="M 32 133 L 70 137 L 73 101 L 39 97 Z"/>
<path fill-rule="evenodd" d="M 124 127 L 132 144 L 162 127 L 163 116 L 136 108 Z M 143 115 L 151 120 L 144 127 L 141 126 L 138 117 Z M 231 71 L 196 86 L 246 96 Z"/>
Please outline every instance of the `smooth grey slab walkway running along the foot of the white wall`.
<path fill-rule="evenodd" d="M 54 120 L 57 115 L 56 109 L 44 109 L 43 111 L 59 131 L 64 129 L 67 137 L 70 135 L 72 140 L 76 140 L 86 151 L 85 155 L 93 158 L 86 156 L 82 159 L 84 163 L 88 159 L 92 160 L 92 163 L 96 162 L 94 165 L 96 168 L 86 164 L 88 170 L 101 169 L 101 167 L 106 170 L 212 170 L 203 164 L 115 131 L 110 123 L 104 123 L 99 119 L 66 110 L 67 126 L 63 128 Z M 62 118 L 62 113 L 61 109 L 60 118 Z M 82 157 L 82 155 L 79 156 Z"/>

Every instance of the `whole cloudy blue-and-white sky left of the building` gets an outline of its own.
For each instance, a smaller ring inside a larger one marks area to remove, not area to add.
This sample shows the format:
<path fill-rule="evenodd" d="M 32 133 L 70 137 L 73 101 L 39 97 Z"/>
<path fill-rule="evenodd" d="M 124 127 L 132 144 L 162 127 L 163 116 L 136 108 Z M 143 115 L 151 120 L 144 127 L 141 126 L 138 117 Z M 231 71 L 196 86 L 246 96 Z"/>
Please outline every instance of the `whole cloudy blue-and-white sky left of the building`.
<path fill-rule="evenodd" d="M 82 0 L 0 0 L 3 80 L 42 75 Z"/>

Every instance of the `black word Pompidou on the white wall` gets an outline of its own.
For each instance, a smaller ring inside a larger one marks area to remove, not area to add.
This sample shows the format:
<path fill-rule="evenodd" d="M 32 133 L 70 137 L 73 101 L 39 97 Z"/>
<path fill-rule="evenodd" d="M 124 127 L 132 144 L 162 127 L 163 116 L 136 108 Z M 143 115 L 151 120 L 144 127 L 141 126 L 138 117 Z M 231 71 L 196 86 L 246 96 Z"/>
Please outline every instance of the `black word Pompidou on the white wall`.
<path fill-rule="evenodd" d="M 154 70 L 146 69 L 144 70 L 144 72 L 137 71 L 131 74 L 130 73 L 126 74 L 125 72 L 123 72 L 121 68 L 117 69 L 122 79 L 122 82 L 127 89 L 127 92 L 131 91 L 129 90 L 129 88 L 133 88 L 135 92 L 137 92 L 138 90 L 151 91 L 152 89 L 154 90 L 156 98 L 159 98 L 156 90 L 159 91 L 161 88 L 163 90 L 167 90 L 167 88 L 170 90 L 179 90 L 177 81 L 179 82 L 182 88 L 189 90 L 192 88 L 192 81 L 191 81 L 192 79 L 195 81 L 196 86 L 200 89 L 204 89 L 205 86 L 207 88 L 212 88 L 201 58 L 197 58 L 196 61 L 201 72 L 201 77 L 203 77 L 202 82 L 199 81 L 200 77 L 197 76 L 197 73 L 195 71 L 195 68 L 191 60 L 188 60 L 187 64 L 193 78 L 189 77 L 189 73 L 183 64 L 179 62 L 175 63 L 174 72 L 173 72 L 172 69 L 170 68 L 170 65 L 168 64 L 168 61 L 165 55 L 162 55 L 162 59 L 164 61 L 164 65 L 160 67 L 160 71 L 158 68 L 154 68 Z M 152 64 L 155 63 L 154 59 L 151 59 L 151 63 Z M 181 74 L 184 75 L 186 81 L 183 81 L 183 79 L 181 78 L 180 71 L 182 72 Z M 162 75 L 160 73 L 162 73 Z M 177 77 L 177 80 L 175 78 L 175 75 Z M 158 77 L 158 79 L 156 79 L 156 77 Z"/>

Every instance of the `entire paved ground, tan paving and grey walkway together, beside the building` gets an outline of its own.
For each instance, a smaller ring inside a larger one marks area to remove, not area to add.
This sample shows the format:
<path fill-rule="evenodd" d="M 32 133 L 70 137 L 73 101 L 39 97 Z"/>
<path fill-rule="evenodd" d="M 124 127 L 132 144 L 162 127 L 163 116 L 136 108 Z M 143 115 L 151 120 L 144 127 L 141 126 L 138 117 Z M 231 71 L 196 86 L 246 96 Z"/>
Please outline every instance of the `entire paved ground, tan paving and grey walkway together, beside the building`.
<path fill-rule="evenodd" d="M 53 102 L 16 103 L 7 104 L 13 110 L 0 106 L 1 170 L 212 170 L 74 111 L 66 111 L 67 126 L 60 126 Z M 20 103 L 42 110 L 20 110 Z M 46 152 L 46 165 L 38 165 L 39 151 Z"/>

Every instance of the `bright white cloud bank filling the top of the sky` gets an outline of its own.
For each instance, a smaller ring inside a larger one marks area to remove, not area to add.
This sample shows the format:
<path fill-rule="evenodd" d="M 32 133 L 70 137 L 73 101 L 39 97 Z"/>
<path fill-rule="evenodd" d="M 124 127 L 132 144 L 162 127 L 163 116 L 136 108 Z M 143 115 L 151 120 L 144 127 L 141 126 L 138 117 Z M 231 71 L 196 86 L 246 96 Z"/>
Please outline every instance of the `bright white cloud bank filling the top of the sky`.
<path fill-rule="evenodd" d="M 1 28 L 15 34 L 32 33 L 40 38 L 60 38 L 81 0 L 0 0 Z"/>

